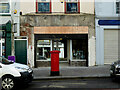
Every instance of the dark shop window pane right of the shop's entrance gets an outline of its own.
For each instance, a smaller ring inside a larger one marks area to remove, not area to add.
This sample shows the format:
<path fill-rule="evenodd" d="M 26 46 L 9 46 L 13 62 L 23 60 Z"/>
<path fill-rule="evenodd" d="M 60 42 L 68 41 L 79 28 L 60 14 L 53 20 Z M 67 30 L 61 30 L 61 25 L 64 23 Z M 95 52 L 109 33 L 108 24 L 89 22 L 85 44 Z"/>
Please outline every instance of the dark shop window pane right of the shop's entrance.
<path fill-rule="evenodd" d="M 86 60 L 87 45 L 85 40 L 72 41 L 73 60 Z"/>

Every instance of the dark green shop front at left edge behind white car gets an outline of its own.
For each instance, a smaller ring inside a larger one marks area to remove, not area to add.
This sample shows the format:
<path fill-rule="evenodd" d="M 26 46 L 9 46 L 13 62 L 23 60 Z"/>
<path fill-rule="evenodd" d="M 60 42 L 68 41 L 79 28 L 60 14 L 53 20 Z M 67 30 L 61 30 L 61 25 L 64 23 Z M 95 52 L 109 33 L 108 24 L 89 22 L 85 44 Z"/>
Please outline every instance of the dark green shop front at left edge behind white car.
<path fill-rule="evenodd" d="M 0 56 L 11 55 L 11 22 L 0 25 Z"/>

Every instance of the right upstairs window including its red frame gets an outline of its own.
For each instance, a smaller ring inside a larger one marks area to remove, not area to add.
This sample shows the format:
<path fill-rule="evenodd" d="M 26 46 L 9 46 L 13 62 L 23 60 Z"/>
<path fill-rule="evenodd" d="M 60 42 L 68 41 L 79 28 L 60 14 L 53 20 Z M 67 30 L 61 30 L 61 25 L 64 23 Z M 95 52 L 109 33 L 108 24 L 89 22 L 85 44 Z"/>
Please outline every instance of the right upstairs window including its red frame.
<path fill-rule="evenodd" d="M 79 0 L 66 0 L 65 1 L 65 12 L 66 13 L 79 13 L 80 2 Z"/>

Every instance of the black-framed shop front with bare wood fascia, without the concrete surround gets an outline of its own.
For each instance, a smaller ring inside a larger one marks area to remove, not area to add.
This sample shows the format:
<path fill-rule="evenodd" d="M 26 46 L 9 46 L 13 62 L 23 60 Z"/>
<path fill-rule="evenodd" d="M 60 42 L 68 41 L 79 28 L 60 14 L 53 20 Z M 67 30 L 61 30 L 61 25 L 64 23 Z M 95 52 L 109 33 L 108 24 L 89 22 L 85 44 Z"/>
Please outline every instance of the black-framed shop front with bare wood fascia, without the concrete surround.
<path fill-rule="evenodd" d="M 46 28 L 46 29 L 45 29 Z M 53 28 L 53 32 L 47 32 L 47 29 Z M 70 66 L 87 66 L 88 65 L 88 32 L 87 27 L 61 27 L 63 30 L 58 31 L 60 27 L 44 27 L 44 34 L 35 33 L 35 65 L 36 67 L 50 66 L 50 51 L 59 50 L 59 61 L 66 62 Z M 76 29 L 75 29 L 76 28 Z M 55 30 L 56 29 L 56 30 Z M 64 29 L 66 32 L 64 32 Z M 68 32 L 69 30 L 72 32 Z M 82 32 L 81 32 L 82 29 Z M 43 30 L 42 30 L 43 31 Z M 63 32 L 62 32 L 63 31 Z M 76 34 L 77 31 L 77 34 Z M 79 33 L 78 33 L 79 32 Z M 64 33 L 64 34 L 60 34 Z"/>

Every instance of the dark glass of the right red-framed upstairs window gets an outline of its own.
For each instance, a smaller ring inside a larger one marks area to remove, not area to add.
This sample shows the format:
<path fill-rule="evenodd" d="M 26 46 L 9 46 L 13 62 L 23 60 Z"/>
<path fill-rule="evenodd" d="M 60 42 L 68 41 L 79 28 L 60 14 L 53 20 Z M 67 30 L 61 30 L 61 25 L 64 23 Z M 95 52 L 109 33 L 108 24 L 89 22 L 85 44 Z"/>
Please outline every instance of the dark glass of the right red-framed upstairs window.
<path fill-rule="evenodd" d="M 78 12 L 78 4 L 77 3 L 66 3 L 66 12 L 68 13 Z"/>

